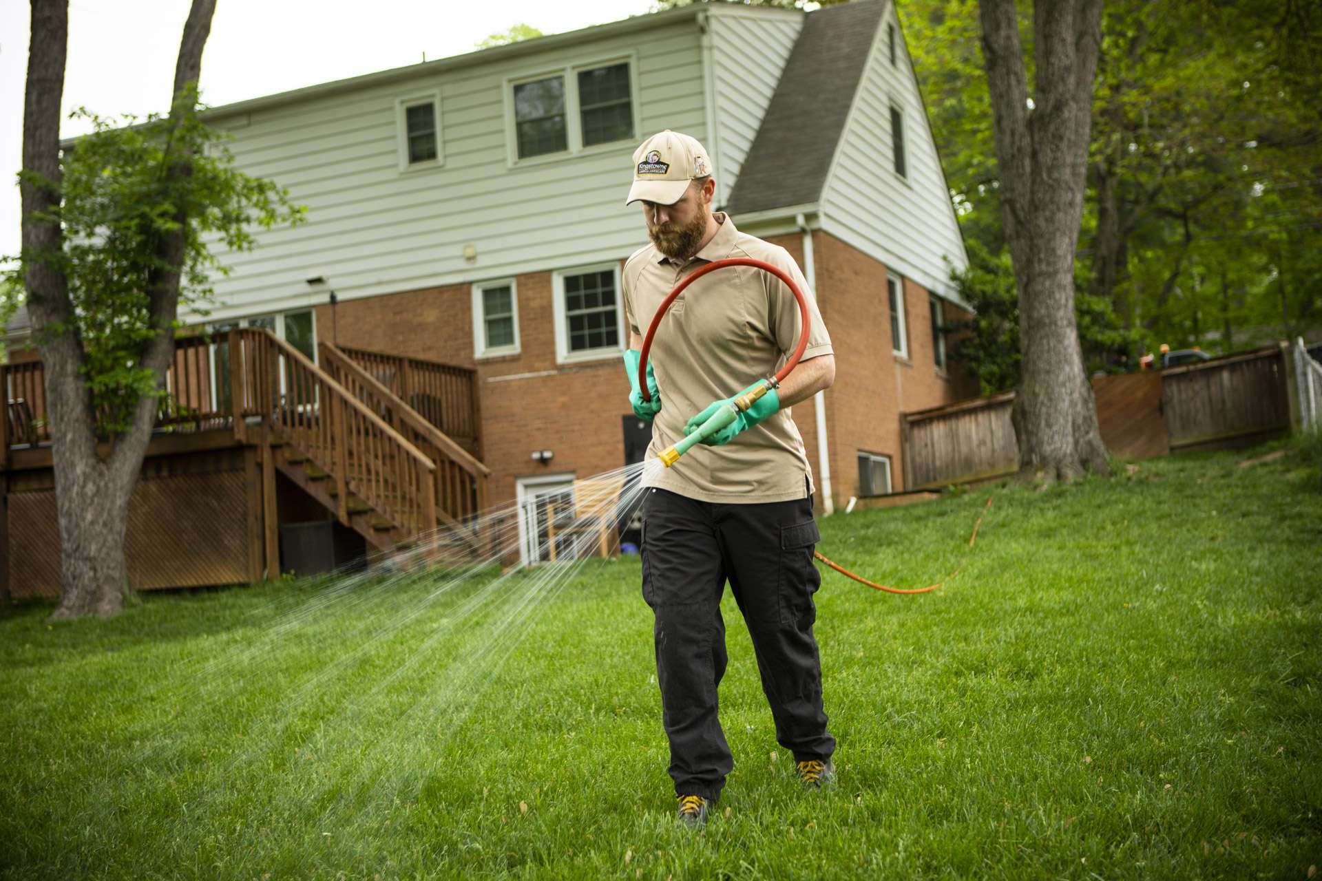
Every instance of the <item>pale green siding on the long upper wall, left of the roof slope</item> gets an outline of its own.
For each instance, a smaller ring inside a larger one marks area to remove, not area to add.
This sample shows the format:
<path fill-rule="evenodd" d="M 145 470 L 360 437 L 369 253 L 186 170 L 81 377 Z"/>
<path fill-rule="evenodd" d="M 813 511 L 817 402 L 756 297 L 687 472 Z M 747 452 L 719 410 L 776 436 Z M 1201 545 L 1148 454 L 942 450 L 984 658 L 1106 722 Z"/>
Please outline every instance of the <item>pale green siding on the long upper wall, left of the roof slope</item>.
<path fill-rule="evenodd" d="M 624 206 L 631 137 L 582 155 L 510 165 L 509 79 L 629 59 L 639 136 L 674 128 L 706 137 L 699 32 L 691 17 L 584 38 L 501 62 L 424 71 L 245 116 L 221 116 L 242 170 L 288 188 L 307 223 L 256 232 L 258 247 L 219 254 L 214 318 L 512 276 L 628 256 L 645 243 Z M 571 74 L 572 75 L 572 74 Z M 438 91 L 443 164 L 401 170 L 397 107 Z M 476 262 L 463 256 L 476 248 Z M 324 275 L 316 291 L 307 277 Z"/>

